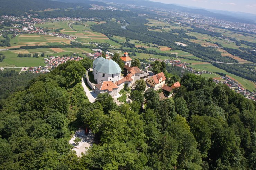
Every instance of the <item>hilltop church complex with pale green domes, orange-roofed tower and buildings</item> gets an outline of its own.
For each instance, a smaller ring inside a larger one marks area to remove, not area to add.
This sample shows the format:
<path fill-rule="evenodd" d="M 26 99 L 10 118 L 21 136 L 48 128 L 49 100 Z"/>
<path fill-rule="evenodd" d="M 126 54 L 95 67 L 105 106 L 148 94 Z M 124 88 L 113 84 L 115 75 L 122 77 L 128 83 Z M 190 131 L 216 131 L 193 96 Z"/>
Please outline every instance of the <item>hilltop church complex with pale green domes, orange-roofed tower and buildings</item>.
<path fill-rule="evenodd" d="M 132 87 L 136 80 L 140 80 L 149 76 L 148 73 L 143 73 L 138 67 L 131 67 L 132 59 L 127 52 L 124 56 L 120 57 L 124 62 L 124 76 L 121 76 L 122 69 L 111 58 L 99 57 L 93 61 L 92 74 L 94 80 L 98 83 L 95 84 L 93 90 L 95 93 L 107 92 L 111 96 L 116 96 L 121 89 L 124 89 L 124 85 Z M 146 80 L 149 87 L 154 89 L 162 88 L 165 85 L 164 73 L 156 74 Z M 166 87 L 165 87 L 166 89 Z M 165 90 L 163 89 L 163 90 Z M 168 88 L 169 90 L 172 88 Z"/>

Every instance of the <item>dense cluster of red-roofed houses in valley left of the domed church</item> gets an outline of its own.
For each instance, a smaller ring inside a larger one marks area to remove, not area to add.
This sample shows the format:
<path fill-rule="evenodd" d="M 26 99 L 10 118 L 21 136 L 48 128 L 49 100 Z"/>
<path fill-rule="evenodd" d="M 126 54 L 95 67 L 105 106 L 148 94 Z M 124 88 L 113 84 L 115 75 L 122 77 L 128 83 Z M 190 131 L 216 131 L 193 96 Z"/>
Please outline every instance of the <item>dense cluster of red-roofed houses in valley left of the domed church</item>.
<path fill-rule="evenodd" d="M 48 67 L 57 67 L 58 65 L 60 64 L 63 64 L 67 61 L 72 61 L 72 60 L 75 60 L 75 61 L 79 61 L 79 60 L 82 60 L 83 58 L 82 57 L 72 57 L 72 56 L 58 56 L 58 57 L 54 57 L 54 56 L 50 56 L 49 59 L 48 58 L 44 58 L 45 60 L 45 63 L 46 63 L 46 66 Z"/>

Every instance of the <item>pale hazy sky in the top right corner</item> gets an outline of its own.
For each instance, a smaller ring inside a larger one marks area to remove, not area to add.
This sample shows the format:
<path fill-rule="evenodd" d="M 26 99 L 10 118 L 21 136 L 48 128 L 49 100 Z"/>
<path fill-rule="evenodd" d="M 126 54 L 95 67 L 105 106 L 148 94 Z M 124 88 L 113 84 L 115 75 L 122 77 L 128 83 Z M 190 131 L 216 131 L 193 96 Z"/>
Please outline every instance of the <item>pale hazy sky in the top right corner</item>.
<path fill-rule="evenodd" d="M 150 0 L 154 2 L 181 4 L 207 9 L 240 11 L 256 14 L 256 0 Z"/>

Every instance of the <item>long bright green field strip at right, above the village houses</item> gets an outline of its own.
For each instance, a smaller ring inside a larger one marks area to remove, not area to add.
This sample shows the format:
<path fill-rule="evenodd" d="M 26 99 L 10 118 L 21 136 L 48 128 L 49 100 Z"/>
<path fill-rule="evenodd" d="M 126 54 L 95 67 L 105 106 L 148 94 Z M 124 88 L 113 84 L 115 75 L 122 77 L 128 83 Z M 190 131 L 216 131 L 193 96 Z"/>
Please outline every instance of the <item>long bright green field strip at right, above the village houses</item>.
<path fill-rule="evenodd" d="M 213 66 L 212 64 L 198 64 L 198 65 L 191 65 L 191 67 L 195 68 L 195 70 L 205 70 L 205 71 L 210 71 L 210 72 L 220 72 L 220 73 L 224 73 L 227 76 L 232 77 L 233 79 L 235 79 L 235 81 L 237 81 L 238 83 L 240 83 L 245 89 L 248 89 L 250 91 L 255 90 L 256 85 L 244 78 L 241 78 L 239 76 L 236 76 L 234 74 L 228 73 L 225 70 L 219 69 L 215 66 Z"/>

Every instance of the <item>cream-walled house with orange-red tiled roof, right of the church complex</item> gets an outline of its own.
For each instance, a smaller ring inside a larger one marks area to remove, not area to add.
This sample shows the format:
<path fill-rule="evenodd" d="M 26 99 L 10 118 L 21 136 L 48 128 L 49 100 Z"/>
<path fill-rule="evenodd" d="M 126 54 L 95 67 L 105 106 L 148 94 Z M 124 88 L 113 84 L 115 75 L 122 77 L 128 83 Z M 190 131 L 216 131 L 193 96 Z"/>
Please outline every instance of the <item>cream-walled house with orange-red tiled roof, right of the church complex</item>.
<path fill-rule="evenodd" d="M 164 76 L 164 73 L 158 73 L 152 77 L 149 77 L 146 80 L 146 83 L 148 86 L 154 89 L 162 88 L 162 86 L 165 84 L 166 77 Z"/>

